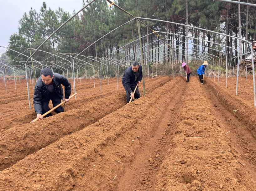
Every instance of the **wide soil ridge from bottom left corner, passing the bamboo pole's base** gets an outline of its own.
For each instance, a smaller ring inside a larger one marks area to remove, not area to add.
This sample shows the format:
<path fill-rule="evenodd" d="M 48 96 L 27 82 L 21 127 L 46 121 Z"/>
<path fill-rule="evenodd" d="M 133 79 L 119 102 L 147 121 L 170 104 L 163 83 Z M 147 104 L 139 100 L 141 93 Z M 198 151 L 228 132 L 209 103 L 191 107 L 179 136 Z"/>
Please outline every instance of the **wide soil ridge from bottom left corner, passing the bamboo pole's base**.
<path fill-rule="evenodd" d="M 185 82 L 177 77 L 0 174 L 0 190 L 113 190 Z"/>

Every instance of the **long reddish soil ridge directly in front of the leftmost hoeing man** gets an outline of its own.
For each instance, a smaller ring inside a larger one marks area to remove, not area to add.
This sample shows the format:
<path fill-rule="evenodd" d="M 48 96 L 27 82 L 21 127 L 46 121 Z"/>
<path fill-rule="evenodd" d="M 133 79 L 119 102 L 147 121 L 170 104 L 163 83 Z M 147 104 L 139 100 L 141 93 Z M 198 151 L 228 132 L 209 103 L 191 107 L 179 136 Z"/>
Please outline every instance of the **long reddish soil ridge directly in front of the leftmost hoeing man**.
<path fill-rule="evenodd" d="M 170 80 L 170 77 L 163 77 L 147 84 L 147 92 L 152 92 Z M 0 170 L 10 167 L 61 137 L 95 123 L 126 103 L 124 90 L 120 90 L 115 95 L 87 103 L 74 110 L 0 133 Z"/>

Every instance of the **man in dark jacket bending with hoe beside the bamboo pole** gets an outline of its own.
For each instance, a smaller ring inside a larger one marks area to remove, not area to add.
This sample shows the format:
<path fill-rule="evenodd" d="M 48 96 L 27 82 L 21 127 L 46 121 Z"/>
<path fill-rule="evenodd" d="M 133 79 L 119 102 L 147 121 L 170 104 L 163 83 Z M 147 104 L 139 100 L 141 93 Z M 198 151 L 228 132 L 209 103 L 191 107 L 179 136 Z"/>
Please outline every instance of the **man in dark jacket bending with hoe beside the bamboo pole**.
<path fill-rule="evenodd" d="M 126 100 L 129 103 L 130 99 L 138 99 L 140 97 L 139 89 L 137 87 L 134 95 L 133 91 L 142 80 L 142 65 L 139 65 L 137 61 L 133 61 L 132 65 L 127 68 L 123 74 L 122 84 L 126 91 Z"/>

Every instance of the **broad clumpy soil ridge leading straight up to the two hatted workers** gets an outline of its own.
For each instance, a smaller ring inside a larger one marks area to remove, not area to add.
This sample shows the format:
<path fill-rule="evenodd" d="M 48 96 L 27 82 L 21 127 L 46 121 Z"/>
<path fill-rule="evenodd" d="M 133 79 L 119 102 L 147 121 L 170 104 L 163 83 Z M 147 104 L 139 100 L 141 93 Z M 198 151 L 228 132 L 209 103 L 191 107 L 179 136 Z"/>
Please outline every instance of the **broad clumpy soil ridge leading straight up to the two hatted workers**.
<path fill-rule="evenodd" d="M 196 77 L 187 85 L 155 190 L 254 190 L 247 167 L 235 159 L 230 138 Z"/>

